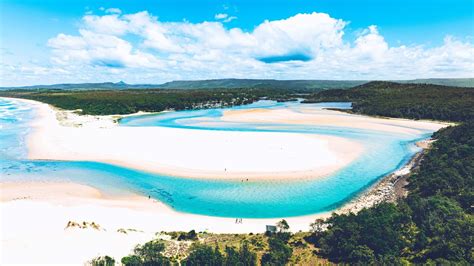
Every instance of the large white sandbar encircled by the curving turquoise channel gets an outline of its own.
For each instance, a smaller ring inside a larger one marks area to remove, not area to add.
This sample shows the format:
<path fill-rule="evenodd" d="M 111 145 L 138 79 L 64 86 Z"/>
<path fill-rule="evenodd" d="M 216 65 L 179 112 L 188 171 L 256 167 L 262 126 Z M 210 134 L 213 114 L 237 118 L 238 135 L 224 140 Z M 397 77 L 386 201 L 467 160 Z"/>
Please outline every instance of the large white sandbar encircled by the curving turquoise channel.
<path fill-rule="evenodd" d="M 165 127 L 118 127 L 112 118 L 63 126 L 56 112 L 36 103 L 29 158 L 98 161 L 180 177 L 302 179 L 328 175 L 363 148 L 323 135 L 224 132 Z M 102 121 L 102 122 L 101 122 Z M 311 156 L 308 156 L 311 153 Z"/>

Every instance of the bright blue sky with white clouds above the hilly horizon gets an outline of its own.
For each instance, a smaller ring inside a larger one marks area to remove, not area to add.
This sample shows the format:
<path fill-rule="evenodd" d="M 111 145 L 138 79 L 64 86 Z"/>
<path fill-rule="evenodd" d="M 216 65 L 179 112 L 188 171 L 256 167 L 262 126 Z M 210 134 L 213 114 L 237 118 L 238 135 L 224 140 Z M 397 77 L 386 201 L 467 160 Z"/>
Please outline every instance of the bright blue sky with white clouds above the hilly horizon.
<path fill-rule="evenodd" d="M 0 86 L 474 76 L 474 0 L 0 0 Z"/>

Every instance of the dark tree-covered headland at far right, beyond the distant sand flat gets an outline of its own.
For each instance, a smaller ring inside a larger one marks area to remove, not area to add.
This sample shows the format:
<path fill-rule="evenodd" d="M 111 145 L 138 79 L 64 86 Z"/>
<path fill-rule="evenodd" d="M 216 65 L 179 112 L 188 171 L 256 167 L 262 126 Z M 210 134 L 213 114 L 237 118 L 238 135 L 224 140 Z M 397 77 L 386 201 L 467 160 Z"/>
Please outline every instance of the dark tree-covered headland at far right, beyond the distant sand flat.
<path fill-rule="evenodd" d="M 474 88 L 374 81 L 352 89 L 317 92 L 305 102 L 352 102 L 366 115 L 467 121 L 474 119 Z"/>

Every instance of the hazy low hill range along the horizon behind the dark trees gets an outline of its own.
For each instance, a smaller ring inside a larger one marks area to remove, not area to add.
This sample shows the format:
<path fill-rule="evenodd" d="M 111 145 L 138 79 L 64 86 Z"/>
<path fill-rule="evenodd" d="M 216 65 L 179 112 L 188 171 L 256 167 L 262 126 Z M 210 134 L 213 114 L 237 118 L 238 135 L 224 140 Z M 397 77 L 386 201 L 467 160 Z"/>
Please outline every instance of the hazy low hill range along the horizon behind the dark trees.
<path fill-rule="evenodd" d="M 48 89 L 48 90 L 125 90 L 125 89 L 234 89 L 234 88 L 272 88 L 272 89 L 348 89 L 369 82 L 368 80 L 275 80 L 275 79 L 211 79 L 178 80 L 163 84 L 127 84 L 123 81 L 113 83 L 76 83 L 34 85 L 23 87 L 0 87 L 7 89 Z M 399 83 L 435 84 L 444 86 L 473 87 L 474 78 L 462 79 L 415 79 L 396 81 Z"/>

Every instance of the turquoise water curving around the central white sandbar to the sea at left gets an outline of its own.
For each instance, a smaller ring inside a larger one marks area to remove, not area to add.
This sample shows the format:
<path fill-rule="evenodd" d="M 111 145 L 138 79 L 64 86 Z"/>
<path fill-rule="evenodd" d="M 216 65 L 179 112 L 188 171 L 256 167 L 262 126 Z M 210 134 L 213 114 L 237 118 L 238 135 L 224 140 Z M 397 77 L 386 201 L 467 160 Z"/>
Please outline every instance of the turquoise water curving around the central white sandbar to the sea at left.
<path fill-rule="evenodd" d="M 260 101 L 242 108 L 289 108 L 301 111 L 298 102 Z M 349 108 L 347 103 L 303 105 Z M 71 181 L 104 193 L 150 195 L 175 210 L 196 214 L 269 218 L 290 217 L 332 210 L 350 200 L 378 178 L 405 164 L 417 152 L 414 142 L 429 137 L 314 125 L 243 124 L 220 120 L 223 109 L 168 112 L 127 117 L 120 126 L 164 126 L 189 130 L 294 132 L 326 134 L 353 139 L 366 152 L 349 166 L 322 179 L 308 181 L 214 181 L 150 174 L 97 162 L 33 161 L 26 159 L 25 137 L 34 119 L 28 104 L 0 98 L 0 177 L 2 181 Z M 199 118 L 199 120 L 196 120 Z M 206 122 L 206 123 L 203 123 Z M 306 156 L 311 156 L 307 151 Z"/>

